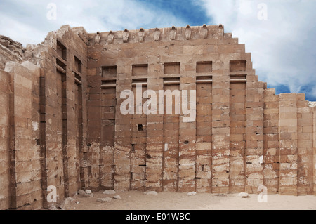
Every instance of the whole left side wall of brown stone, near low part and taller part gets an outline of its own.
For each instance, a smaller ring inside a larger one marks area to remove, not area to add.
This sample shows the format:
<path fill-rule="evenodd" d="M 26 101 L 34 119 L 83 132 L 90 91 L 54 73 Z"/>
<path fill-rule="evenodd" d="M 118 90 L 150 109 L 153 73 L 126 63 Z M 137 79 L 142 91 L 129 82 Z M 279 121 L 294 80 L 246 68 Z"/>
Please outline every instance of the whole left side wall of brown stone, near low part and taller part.
<path fill-rule="evenodd" d="M 7 62 L 1 71 L 1 209 L 52 206 L 49 186 L 56 187 L 56 203 L 88 187 L 80 161 L 86 150 L 84 34 L 61 27 L 42 44 L 28 45 L 22 65 Z"/>

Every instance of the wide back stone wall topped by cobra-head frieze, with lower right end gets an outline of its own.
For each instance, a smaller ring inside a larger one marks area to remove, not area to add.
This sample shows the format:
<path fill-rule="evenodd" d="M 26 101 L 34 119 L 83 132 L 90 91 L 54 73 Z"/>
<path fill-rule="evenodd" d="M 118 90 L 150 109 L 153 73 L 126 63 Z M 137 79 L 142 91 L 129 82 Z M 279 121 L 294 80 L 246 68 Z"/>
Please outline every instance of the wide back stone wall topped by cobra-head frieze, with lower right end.
<path fill-rule="evenodd" d="M 223 26 L 89 37 L 87 143 L 100 161 L 91 166 L 93 187 L 256 193 L 265 185 L 313 194 L 312 107 L 303 94 L 275 95 L 258 81 L 250 53 Z M 157 95 L 196 90 L 197 118 L 122 115 L 120 94 L 136 94 L 139 82 Z"/>

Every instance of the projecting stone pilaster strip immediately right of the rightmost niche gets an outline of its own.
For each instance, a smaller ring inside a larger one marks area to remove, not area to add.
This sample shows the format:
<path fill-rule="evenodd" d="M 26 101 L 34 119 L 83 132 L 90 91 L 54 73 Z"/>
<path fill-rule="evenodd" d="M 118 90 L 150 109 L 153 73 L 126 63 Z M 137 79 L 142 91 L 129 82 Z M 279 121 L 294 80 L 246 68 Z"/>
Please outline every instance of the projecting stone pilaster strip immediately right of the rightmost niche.
<path fill-rule="evenodd" d="M 249 57 L 250 58 L 250 55 Z M 250 59 L 248 59 L 250 60 Z M 251 62 L 246 61 L 246 153 L 245 153 L 245 192 L 258 192 L 263 185 L 263 90 L 265 83 L 258 81 L 254 70 L 250 70 Z M 232 62 L 232 65 L 239 64 Z M 239 72 L 241 69 L 238 70 Z M 242 72 L 242 71 L 241 71 Z M 238 72 L 235 73 L 238 76 Z"/>

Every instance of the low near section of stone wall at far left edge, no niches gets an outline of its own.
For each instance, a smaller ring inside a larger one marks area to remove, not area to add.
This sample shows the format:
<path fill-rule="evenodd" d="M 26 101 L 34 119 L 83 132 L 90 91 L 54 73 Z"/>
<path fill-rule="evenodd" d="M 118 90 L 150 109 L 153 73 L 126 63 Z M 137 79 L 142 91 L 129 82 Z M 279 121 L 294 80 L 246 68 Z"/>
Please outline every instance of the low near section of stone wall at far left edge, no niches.
<path fill-rule="evenodd" d="M 7 72 L 7 73 L 6 73 Z M 7 62 L 1 77 L 6 80 L 2 96 L 7 113 L 1 119 L 4 177 L 1 185 L 6 204 L 3 209 L 42 207 L 41 166 L 39 157 L 39 68 L 30 62 Z M 5 178 L 6 177 L 6 178 Z M 7 179 L 8 178 L 8 179 Z M 2 192 L 2 191 L 1 191 Z M 9 197 L 8 197 L 9 196 Z"/>

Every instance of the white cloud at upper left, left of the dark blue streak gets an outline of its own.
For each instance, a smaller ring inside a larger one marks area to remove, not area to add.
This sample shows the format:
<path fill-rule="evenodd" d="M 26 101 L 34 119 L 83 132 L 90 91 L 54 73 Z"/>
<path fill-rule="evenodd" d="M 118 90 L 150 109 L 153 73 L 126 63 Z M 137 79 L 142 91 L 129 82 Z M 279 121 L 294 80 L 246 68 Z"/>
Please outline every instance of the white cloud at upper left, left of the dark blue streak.
<path fill-rule="evenodd" d="M 51 10 L 47 8 L 50 3 L 57 6 L 56 20 L 48 20 L 46 17 Z M 87 32 L 105 32 L 137 29 L 140 25 L 148 28 L 165 27 L 178 25 L 181 22 L 171 13 L 159 8 L 155 10 L 146 8 L 144 4 L 130 0 L 11 0 L 9 5 L 15 9 L 20 8 L 22 13 L 13 17 L 6 15 L 4 9 L 0 9 L 0 13 L 3 14 L 0 33 L 21 41 L 24 45 L 44 41 L 48 32 L 57 30 L 62 25 L 84 27 Z M 9 26 L 8 21 L 13 26 Z"/>

